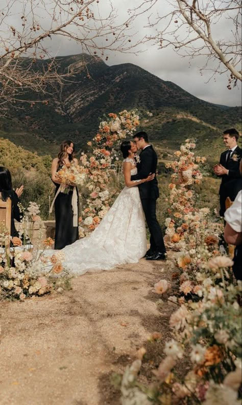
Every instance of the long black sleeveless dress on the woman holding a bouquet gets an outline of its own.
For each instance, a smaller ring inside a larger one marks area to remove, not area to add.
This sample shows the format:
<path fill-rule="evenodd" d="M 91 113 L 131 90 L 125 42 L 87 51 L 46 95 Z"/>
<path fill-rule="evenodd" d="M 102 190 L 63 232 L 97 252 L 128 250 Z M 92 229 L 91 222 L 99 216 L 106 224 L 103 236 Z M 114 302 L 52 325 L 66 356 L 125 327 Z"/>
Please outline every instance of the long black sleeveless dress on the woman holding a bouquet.
<path fill-rule="evenodd" d="M 61 167 L 58 168 L 60 170 Z M 55 195 L 60 187 L 56 186 Z M 79 239 L 78 226 L 73 224 L 73 209 L 71 205 L 74 187 L 69 188 L 67 193 L 59 193 L 55 200 L 55 217 L 56 217 L 56 234 L 55 234 L 55 249 L 63 249 L 66 245 L 76 242 Z M 77 191 L 77 211 L 79 208 L 78 190 Z M 78 215 L 79 216 L 79 215 Z"/>

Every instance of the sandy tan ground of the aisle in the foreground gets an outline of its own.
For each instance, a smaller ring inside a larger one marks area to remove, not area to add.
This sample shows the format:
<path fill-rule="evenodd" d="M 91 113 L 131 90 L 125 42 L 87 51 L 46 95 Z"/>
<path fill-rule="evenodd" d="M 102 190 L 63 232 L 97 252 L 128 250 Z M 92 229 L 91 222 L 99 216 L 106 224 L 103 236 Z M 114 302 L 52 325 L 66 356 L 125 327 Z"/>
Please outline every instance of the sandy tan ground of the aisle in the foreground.
<path fill-rule="evenodd" d="M 1 302 L 1 405 L 117 405 L 110 375 L 160 330 L 163 267 L 142 259 L 77 277 L 62 295 Z"/>

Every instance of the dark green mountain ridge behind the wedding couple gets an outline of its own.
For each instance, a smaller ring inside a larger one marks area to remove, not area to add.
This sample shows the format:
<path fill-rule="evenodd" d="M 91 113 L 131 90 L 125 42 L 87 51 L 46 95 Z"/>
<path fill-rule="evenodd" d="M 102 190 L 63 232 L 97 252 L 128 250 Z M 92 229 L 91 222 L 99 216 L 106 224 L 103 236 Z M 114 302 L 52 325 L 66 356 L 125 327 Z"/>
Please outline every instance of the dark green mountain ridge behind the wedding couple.
<path fill-rule="evenodd" d="M 94 136 L 104 114 L 130 108 L 153 113 L 142 127 L 153 142 L 171 150 L 189 137 L 198 138 L 201 149 L 205 142 L 213 148 L 221 142 L 224 129 L 240 129 L 239 107 L 200 100 L 134 64 L 108 66 L 101 58 L 85 54 L 58 57 L 57 62 L 60 73 L 72 73 L 68 82 L 56 84 L 42 103 L 12 109 L 0 120 L 1 137 L 40 154 L 55 155 L 62 140 L 70 138 L 81 148 Z M 35 69 L 45 63 L 37 60 Z M 36 95 L 26 97 L 34 100 Z"/>

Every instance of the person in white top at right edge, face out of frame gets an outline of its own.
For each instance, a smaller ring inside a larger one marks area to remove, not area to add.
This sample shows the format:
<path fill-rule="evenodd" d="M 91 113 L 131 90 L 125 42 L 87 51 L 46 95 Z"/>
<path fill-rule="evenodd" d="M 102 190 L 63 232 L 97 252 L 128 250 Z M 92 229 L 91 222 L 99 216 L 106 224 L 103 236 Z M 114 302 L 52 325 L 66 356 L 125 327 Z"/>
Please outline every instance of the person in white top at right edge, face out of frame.
<path fill-rule="evenodd" d="M 240 172 L 242 161 L 240 163 Z M 236 280 L 241 280 L 242 273 L 242 191 L 240 190 L 231 205 L 224 214 L 226 226 L 224 230 L 225 241 L 235 245 L 233 273 Z"/>

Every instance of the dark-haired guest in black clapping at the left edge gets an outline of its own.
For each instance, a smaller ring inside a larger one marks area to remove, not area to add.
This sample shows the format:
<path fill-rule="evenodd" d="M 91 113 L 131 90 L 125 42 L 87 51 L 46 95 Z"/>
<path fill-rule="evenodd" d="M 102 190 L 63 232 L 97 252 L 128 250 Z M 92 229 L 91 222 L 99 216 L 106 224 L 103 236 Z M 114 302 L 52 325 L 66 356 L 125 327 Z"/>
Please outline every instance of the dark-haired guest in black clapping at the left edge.
<path fill-rule="evenodd" d="M 21 213 L 18 208 L 19 197 L 23 192 L 23 186 L 17 188 L 15 191 L 12 187 L 12 178 L 10 171 L 3 166 L 0 166 L 0 199 L 7 201 L 8 198 L 12 202 L 11 212 L 11 236 L 19 236 L 14 225 L 14 219 L 20 221 Z"/>

